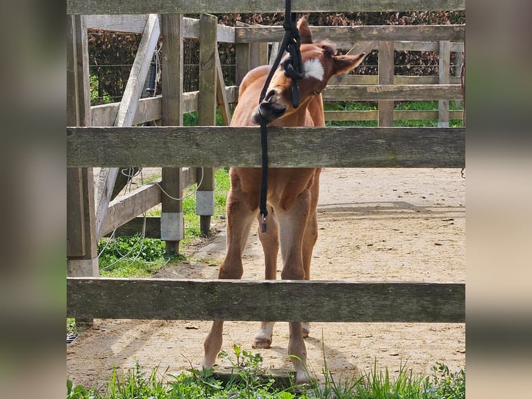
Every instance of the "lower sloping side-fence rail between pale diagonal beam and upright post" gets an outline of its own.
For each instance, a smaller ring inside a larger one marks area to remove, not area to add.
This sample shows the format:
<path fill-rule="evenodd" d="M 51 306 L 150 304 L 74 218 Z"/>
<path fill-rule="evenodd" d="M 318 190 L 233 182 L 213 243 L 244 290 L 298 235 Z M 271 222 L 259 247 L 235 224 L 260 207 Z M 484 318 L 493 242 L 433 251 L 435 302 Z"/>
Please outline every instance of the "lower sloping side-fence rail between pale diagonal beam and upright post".
<path fill-rule="evenodd" d="M 151 184 L 144 184 L 131 193 L 113 199 L 109 204 L 107 217 L 103 220 L 101 236 L 106 236 L 137 215 L 160 204 L 160 188 L 157 186 L 160 182 L 161 179 L 158 179 Z"/>

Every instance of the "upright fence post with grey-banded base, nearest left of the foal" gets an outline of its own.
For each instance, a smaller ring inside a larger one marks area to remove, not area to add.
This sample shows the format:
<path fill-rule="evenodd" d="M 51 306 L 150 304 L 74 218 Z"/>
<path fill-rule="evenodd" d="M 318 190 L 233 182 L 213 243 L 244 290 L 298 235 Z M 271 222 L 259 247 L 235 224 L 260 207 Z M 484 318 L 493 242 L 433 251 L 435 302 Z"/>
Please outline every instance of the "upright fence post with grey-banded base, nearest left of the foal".
<path fill-rule="evenodd" d="M 202 14 L 199 18 L 199 93 L 198 124 L 216 124 L 216 53 L 217 17 Z M 215 209 L 214 168 L 201 168 L 197 171 L 198 190 L 196 192 L 196 214 L 200 217 L 201 234 L 208 234 L 210 217 Z M 201 181 L 201 184 L 199 182 Z"/>

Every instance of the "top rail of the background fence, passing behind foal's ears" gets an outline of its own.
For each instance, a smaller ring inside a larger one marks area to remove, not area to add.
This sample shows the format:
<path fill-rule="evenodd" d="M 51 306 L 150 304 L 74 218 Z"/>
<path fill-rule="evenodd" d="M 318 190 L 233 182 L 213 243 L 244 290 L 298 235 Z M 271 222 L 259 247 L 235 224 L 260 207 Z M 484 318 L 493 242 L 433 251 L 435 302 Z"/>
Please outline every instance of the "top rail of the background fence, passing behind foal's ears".
<path fill-rule="evenodd" d="M 335 42 L 372 42 L 451 40 L 465 39 L 465 25 L 379 25 L 379 26 L 311 26 L 313 35 Z M 283 40 L 282 26 L 249 26 L 235 28 L 235 41 L 279 42 Z"/>

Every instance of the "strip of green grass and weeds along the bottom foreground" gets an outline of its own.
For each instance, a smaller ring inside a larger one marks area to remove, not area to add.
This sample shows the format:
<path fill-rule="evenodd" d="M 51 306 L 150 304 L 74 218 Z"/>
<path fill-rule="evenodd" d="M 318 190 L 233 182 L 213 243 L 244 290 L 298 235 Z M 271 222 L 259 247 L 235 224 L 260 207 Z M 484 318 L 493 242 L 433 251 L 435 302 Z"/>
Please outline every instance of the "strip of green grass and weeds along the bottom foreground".
<path fill-rule="evenodd" d="M 401 364 L 397 377 L 391 377 L 388 368 L 372 371 L 360 377 L 335 380 L 326 363 L 322 374 L 323 383 L 315 380 L 297 385 L 290 380 L 280 386 L 267 377 L 262 367 L 263 358 L 233 345 L 235 358 L 225 352 L 220 357 L 230 359 L 233 375 L 228 381 L 215 377 L 212 369 L 202 371 L 190 368 L 178 375 L 161 372 L 158 367 L 149 373 L 138 362 L 135 368 L 113 375 L 105 386 L 87 388 L 74 386 L 67 379 L 67 399 L 196 399 L 196 398 L 261 398 L 261 399 L 465 399 L 465 369 L 456 373 L 437 363 L 431 375 L 413 375 Z"/>

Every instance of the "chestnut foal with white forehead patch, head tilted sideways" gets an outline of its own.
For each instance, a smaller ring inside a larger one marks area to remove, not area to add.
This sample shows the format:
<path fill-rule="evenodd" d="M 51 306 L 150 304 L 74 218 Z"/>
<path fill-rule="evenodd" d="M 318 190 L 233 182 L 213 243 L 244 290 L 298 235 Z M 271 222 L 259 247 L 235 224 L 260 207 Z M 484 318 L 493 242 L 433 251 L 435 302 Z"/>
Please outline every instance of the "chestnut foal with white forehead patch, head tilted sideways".
<path fill-rule="evenodd" d="M 231 126 L 253 126 L 260 122 L 260 116 L 272 127 L 325 125 L 322 90 L 332 76 L 349 72 L 363 60 L 365 54 L 336 56 L 336 47 L 332 42 L 313 42 L 306 19 L 300 19 L 297 28 L 301 35 L 301 60 L 304 65 L 304 78 L 299 81 L 299 106 L 292 106 L 291 80 L 285 76 L 282 61 L 272 76 L 265 98 L 258 104 L 269 66 L 257 67 L 242 80 Z M 281 278 L 310 279 L 310 258 L 317 240 L 316 206 L 320 172 L 321 168 L 269 168 L 267 232 L 263 233 L 258 212 L 260 168 L 231 168 L 231 190 L 226 209 L 227 252 L 219 268 L 218 278 L 242 278 L 242 252 L 253 220 L 258 218 L 258 236 L 265 254 L 265 278 L 276 278 L 280 243 L 283 259 Z M 205 357 L 201 366 L 210 368 L 215 364 L 222 348 L 223 326 L 223 321 L 213 322 L 203 345 Z M 272 322 L 261 323 L 253 348 L 269 348 L 272 344 L 273 326 Z M 289 327 L 288 354 L 294 355 L 291 359 L 296 380 L 306 382 L 309 373 L 304 337 L 308 336 L 308 323 L 291 322 Z"/>

